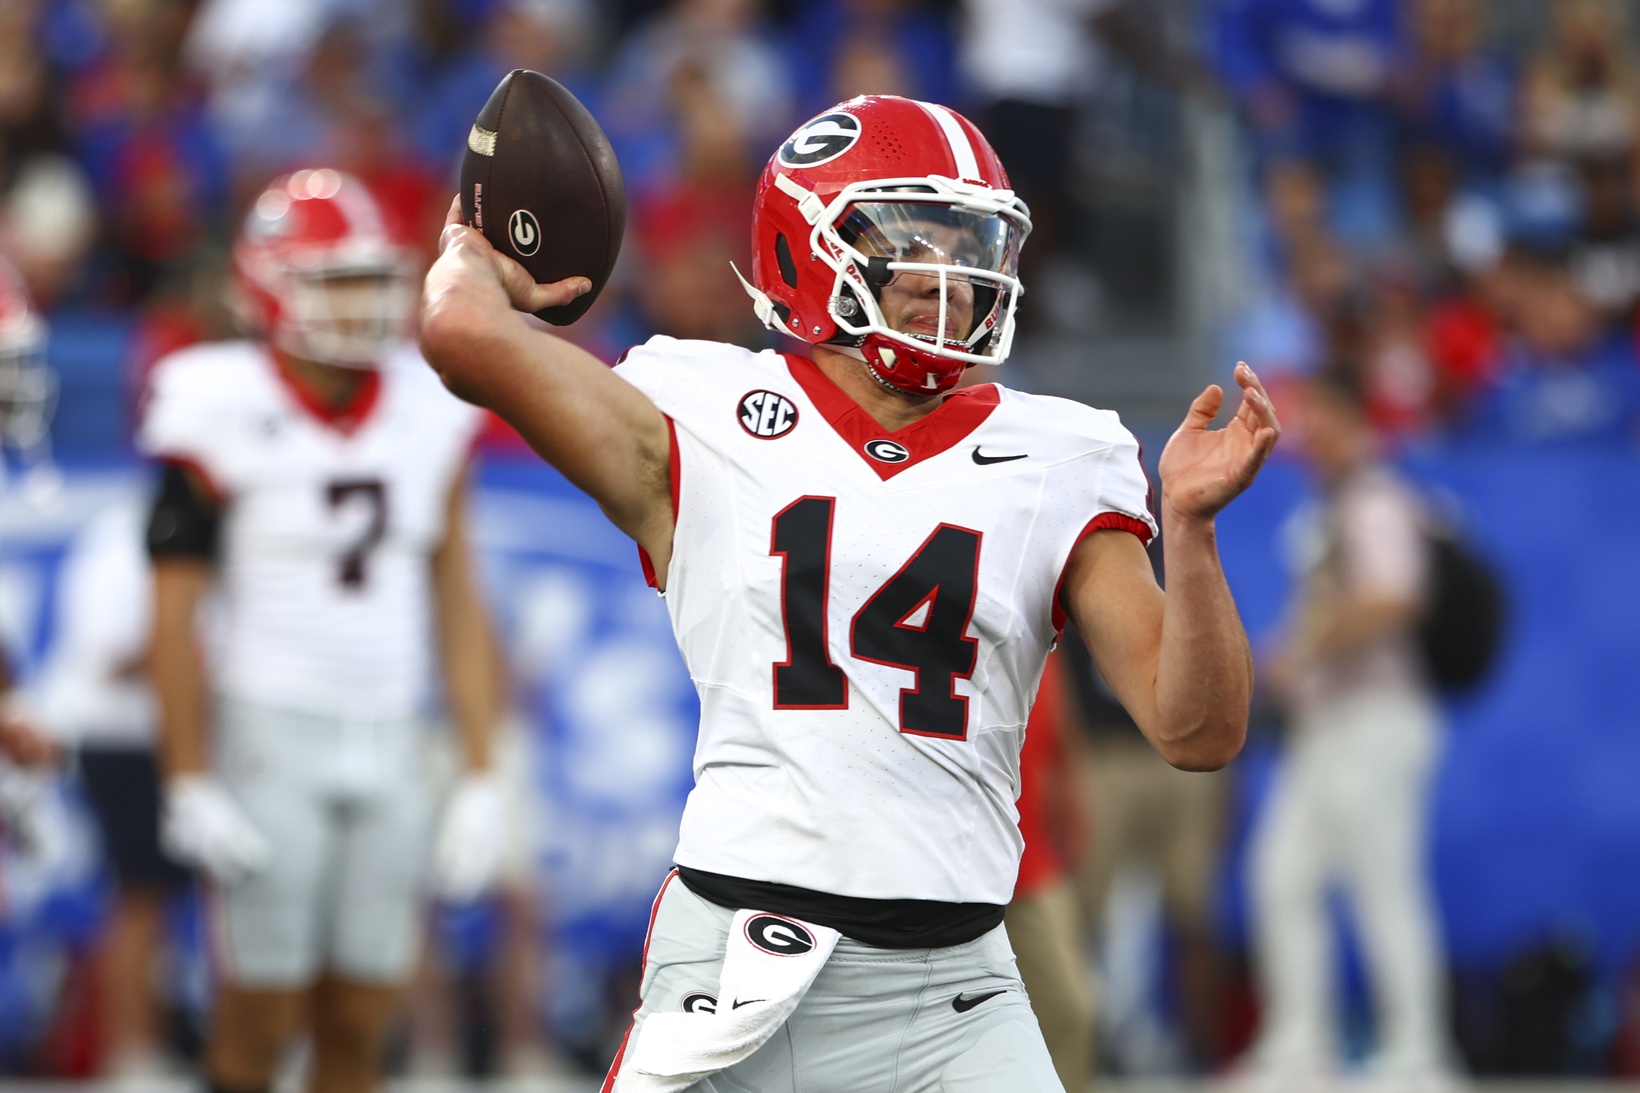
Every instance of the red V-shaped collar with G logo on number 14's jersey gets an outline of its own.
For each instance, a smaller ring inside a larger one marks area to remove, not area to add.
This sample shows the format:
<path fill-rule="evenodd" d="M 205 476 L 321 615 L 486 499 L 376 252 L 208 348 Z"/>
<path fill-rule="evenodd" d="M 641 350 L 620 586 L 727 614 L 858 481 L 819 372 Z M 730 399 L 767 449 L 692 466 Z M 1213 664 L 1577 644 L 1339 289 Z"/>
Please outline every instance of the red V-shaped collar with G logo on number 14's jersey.
<path fill-rule="evenodd" d="M 959 445 L 991 417 L 997 402 L 1002 400 L 995 384 L 959 387 L 946 392 L 940 405 L 927 417 L 917 418 L 905 428 L 889 432 L 831 382 L 831 377 L 820 371 L 820 366 L 812 359 L 795 353 L 784 356 L 792 379 L 815 404 L 820 415 L 882 481 Z M 889 456 L 889 460 L 872 456 L 872 450 Z"/>

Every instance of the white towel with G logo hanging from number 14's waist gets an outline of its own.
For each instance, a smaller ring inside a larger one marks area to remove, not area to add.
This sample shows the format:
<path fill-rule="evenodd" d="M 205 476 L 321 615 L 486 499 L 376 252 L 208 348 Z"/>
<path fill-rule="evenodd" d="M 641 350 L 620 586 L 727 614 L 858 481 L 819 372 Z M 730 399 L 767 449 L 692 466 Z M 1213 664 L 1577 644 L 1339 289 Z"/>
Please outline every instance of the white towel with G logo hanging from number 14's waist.
<path fill-rule="evenodd" d="M 717 1009 L 645 1018 L 615 1093 L 677 1093 L 751 1055 L 797 1009 L 838 937 L 784 914 L 736 911 Z"/>

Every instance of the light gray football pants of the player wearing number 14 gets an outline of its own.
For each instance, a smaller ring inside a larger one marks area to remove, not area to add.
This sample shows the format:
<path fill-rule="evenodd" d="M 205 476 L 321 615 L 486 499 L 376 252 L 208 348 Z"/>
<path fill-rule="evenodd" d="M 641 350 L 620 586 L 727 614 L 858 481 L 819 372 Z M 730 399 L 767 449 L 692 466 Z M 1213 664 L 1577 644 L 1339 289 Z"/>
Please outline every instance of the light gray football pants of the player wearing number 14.
<path fill-rule="evenodd" d="M 669 878 L 649 926 L 643 1004 L 628 1044 L 648 1014 L 682 1009 L 700 993 L 715 999 L 733 916 Z M 617 1057 L 612 1078 L 620 1065 Z M 841 939 L 769 1042 L 689 1086 L 690 1093 L 799 1090 L 1064 1093 L 1000 926 L 950 949 L 877 949 Z"/>

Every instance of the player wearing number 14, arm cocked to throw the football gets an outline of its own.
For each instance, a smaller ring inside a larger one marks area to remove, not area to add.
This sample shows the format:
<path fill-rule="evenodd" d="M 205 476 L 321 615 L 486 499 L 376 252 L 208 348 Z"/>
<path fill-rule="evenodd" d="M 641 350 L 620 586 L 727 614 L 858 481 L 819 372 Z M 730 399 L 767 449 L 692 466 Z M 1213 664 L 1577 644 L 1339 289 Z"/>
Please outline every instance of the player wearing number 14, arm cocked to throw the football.
<path fill-rule="evenodd" d="M 1018 753 L 1074 622 L 1155 747 L 1237 755 L 1251 658 L 1214 517 L 1278 437 L 1253 373 L 1161 456 L 1105 410 L 995 384 L 1028 212 L 966 118 L 861 97 L 753 205 L 758 315 L 810 353 L 654 338 L 608 369 L 522 322 L 587 281 L 459 223 L 421 343 L 641 548 L 700 691 L 695 788 L 605 1090 L 1059 1090 L 1005 932 Z M 699 1085 L 690 1085 L 699 1082 Z"/>

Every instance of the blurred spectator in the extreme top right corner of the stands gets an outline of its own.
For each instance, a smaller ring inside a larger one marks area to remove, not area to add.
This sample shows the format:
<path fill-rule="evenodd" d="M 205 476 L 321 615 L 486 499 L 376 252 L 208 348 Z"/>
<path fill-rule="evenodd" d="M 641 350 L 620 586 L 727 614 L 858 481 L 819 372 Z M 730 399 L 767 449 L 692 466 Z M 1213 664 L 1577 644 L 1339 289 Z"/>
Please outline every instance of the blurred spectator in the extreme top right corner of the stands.
<path fill-rule="evenodd" d="M 1553 41 L 1527 67 L 1522 139 L 1533 156 L 1627 156 L 1640 126 L 1640 71 L 1612 0 L 1556 0 Z"/>

